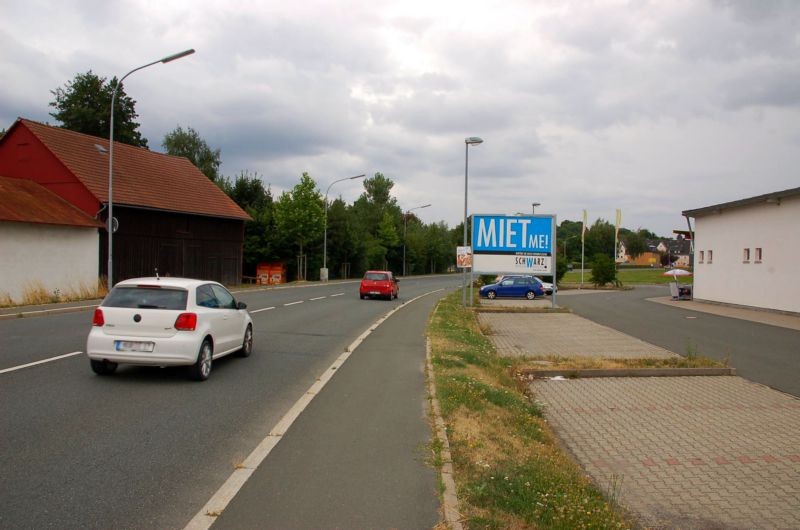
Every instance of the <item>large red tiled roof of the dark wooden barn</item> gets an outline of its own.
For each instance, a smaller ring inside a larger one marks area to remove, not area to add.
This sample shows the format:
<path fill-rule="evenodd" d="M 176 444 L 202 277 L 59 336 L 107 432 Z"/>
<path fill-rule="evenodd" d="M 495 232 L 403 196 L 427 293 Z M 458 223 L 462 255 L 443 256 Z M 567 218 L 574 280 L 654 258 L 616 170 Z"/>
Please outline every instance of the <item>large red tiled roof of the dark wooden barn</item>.
<path fill-rule="evenodd" d="M 108 202 L 108 139 L 20 119 L 101 203 Z M 189 159 L 114 142 L 114 204 L 250 220 Z"/>

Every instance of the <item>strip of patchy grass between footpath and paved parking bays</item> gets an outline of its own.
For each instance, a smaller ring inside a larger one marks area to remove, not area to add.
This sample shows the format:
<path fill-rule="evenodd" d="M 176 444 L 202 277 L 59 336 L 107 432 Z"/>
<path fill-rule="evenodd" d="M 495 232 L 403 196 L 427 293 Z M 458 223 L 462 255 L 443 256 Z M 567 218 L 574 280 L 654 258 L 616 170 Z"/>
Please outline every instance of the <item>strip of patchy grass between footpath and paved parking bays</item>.
<path fill-rule="evenodd" d="M 542 411 L 496 355 L 460 293 L 428 333 L 439 404 L 467 528 L 628 528 L 624 515 L 565 455 Z"/>

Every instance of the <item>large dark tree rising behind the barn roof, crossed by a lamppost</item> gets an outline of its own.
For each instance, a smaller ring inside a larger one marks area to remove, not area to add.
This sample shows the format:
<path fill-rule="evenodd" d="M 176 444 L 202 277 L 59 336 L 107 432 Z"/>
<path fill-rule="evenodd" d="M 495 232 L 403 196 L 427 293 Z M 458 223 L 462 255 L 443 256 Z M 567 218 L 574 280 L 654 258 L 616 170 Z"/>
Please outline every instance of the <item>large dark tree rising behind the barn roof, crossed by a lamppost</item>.
<path fill-rule="evenodd" d="M 116 77 L 106 82 L 105 77 L 98 77 L 91 70 L 77 74 L 64 87 L 50 91 L 55 97 L 50 106 L 56 109 L 50 115 L 61 122 L 64 129 L 108 138 L 111 96 L 116 85 Z M 142 137 L 135 121 L 139 117 L 135 106 L 136 101 L 128 97 L 124 85 L 120 85 L 114 103 L 114 140 L 146 148 L 147 139 Z"/>

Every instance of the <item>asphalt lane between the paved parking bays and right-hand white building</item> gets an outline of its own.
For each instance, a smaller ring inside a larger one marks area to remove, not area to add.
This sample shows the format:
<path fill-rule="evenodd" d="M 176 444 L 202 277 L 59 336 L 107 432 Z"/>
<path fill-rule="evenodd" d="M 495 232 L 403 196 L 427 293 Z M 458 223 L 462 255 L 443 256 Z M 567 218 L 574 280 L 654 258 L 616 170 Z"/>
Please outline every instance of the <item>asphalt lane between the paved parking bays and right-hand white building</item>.
<path fill-rule="evenodd" d="M 800 396 L 800 331 L 647 301 L 667 286 L 558 297 L 575 314 L 680 355 L 728 359 L 737 375 Z"/>

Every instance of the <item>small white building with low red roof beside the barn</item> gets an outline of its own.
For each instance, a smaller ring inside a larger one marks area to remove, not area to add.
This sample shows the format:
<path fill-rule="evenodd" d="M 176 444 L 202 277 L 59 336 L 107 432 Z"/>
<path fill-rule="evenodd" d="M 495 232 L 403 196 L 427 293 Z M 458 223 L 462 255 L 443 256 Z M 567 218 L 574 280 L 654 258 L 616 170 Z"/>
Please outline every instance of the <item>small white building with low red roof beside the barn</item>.
<path fill-rule="evenodd" d="M 39 184 L 0 177 L 0 304 L 97 287 L 100 223 Z"/>

